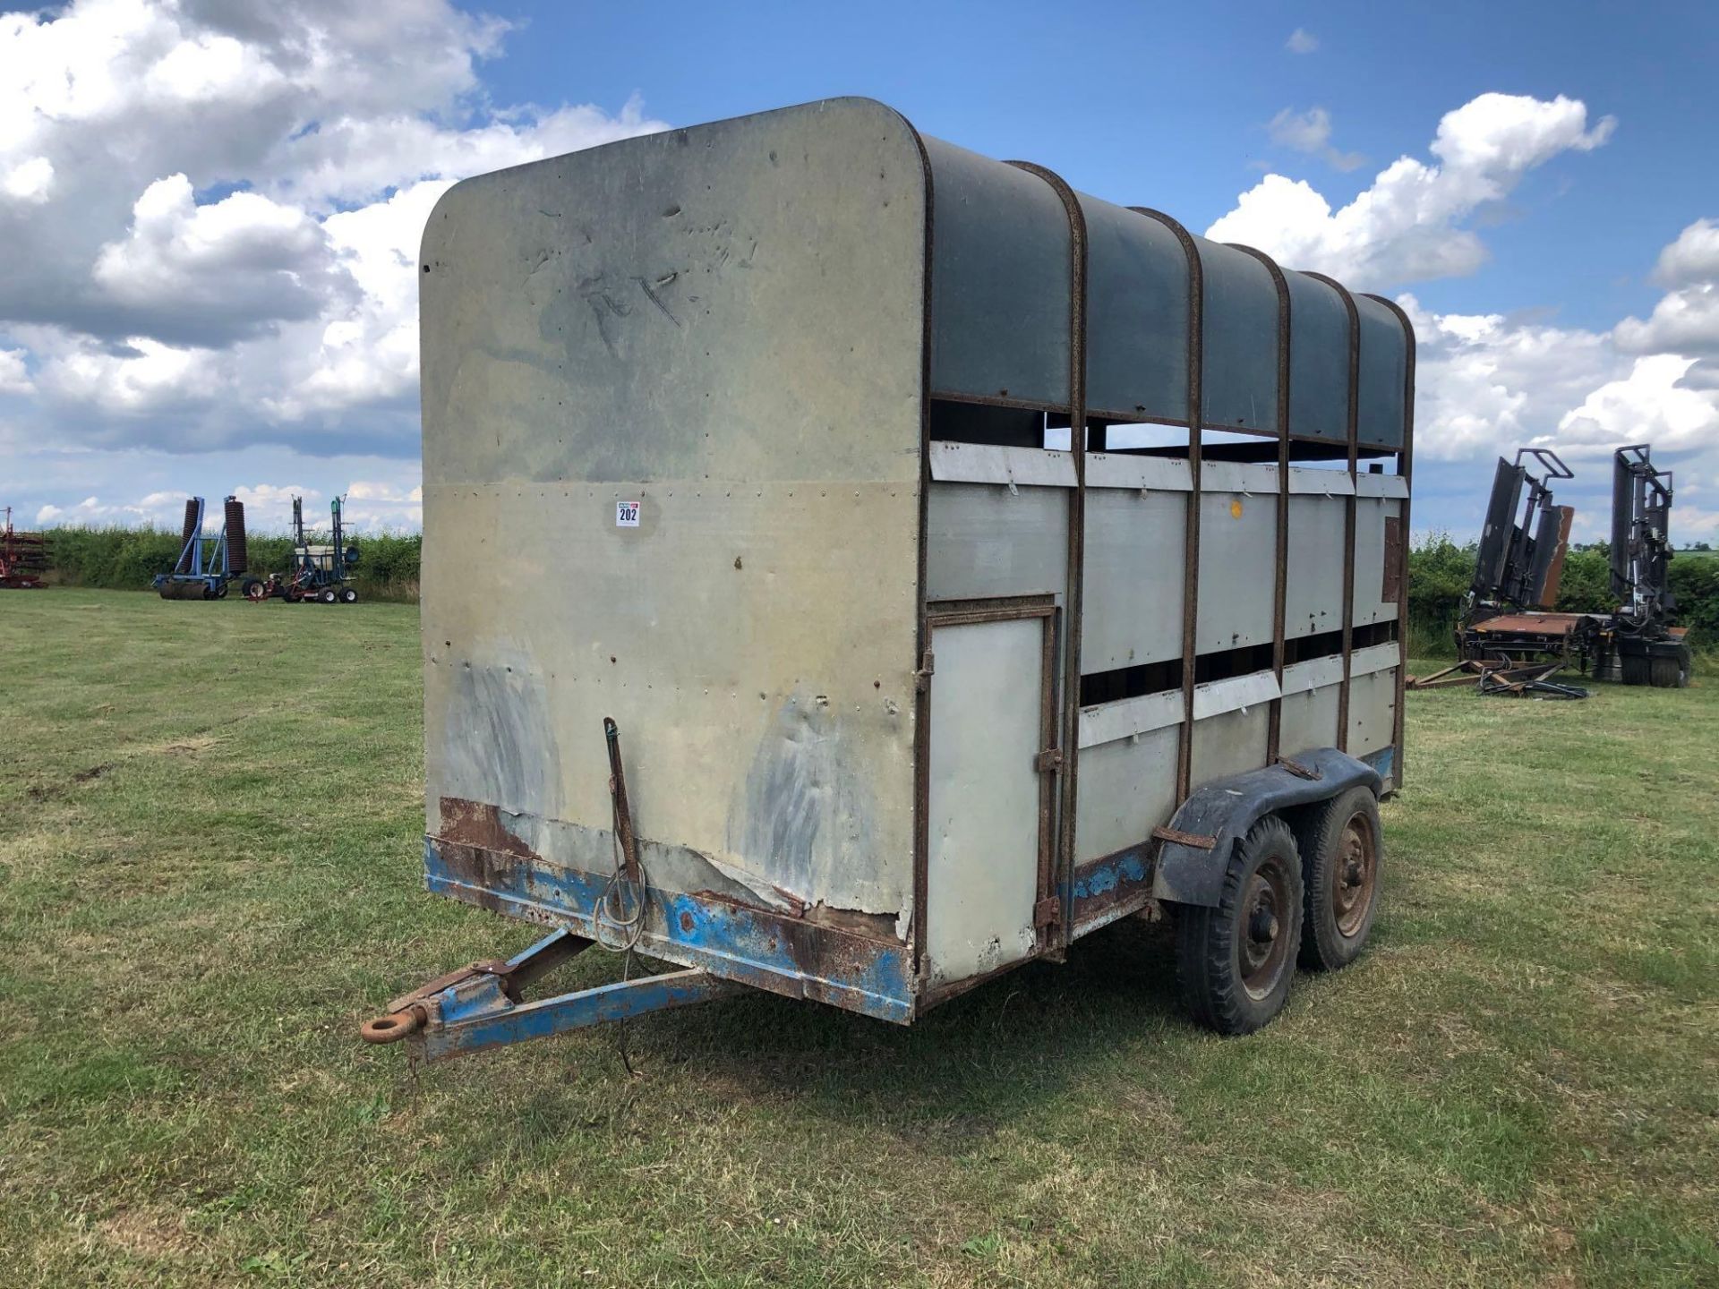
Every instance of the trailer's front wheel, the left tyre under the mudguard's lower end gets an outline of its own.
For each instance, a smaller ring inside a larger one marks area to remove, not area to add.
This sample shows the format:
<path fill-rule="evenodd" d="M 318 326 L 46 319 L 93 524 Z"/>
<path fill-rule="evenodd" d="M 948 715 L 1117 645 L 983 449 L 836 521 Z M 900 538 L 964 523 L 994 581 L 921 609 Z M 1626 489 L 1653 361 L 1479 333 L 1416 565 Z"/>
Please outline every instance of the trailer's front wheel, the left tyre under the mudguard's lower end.
<path fill-rule="evenodd" d="M 1178 916 L 1176 974 L 1193 1017 L 1246 1035 L 1282 1011 L 1301 942 L 1301 856 L 1267 815 L 1236 846 L 1217 907 Z"/>

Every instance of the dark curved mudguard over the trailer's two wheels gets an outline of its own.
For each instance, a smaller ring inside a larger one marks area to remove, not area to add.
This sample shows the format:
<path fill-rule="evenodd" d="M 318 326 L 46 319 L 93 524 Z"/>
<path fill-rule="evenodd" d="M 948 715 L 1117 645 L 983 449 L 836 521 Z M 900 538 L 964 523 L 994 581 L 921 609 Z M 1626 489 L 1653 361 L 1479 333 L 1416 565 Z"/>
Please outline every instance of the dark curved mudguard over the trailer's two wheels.
<path fill-rule="evenodd" d="M 1169 828 L 1159 832 L 1162 844 L 1152 868 L 1153 897 L 1214 907 L 1236 842 L 1248 835 L 1260 816 L 1329 801 L 1358 784 L 1377 796 L 1384 782 L 1373 767 L 1336 748 L 1296 753 L 1293 763 L 1306 773 L 1279 763 L 1196 787 L 1176 811 Z M 1181 834 L 1188 840 L 1165 834 Z M 1210 846 L 1205 846 L 1207 839 Z"/>

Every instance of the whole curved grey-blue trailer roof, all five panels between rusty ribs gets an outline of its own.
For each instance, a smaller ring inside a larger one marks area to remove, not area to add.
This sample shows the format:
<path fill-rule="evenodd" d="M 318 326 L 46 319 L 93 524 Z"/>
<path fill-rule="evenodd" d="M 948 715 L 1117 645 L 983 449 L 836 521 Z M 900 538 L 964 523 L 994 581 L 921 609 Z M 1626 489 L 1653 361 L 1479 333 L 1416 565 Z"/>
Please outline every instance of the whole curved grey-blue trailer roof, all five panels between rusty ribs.
<path fill-rule="evenodd" d="M 1081 345 L 1092 418 L 1288 428 L 1341 443 L 1353 411 L 1363 447 L 1404 447 L 1413 339 L 1389 301 L 1281 270 L 1169 215 L 1073 192 L 1042 167 L 940 139 L 923 144 L 933 395 L 1066 409 L 1069 351 Z M 1071 327 L 1076 249 L 1085 253 L 1085 316 Z M 1282 344 L 1288 404 L 1279 397 Z"/>

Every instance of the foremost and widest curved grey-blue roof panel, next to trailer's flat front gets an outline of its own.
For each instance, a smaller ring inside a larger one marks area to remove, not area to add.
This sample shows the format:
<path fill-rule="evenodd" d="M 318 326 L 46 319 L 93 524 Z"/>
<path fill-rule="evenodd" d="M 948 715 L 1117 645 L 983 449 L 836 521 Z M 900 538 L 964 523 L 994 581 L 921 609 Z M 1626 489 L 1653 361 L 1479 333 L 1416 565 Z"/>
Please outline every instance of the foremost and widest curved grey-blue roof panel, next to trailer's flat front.
<path fill-rule="evenodd" d="M 1069 217 L 1043 179 L 925 139 L 932 392 L 1069 402 Z"/>

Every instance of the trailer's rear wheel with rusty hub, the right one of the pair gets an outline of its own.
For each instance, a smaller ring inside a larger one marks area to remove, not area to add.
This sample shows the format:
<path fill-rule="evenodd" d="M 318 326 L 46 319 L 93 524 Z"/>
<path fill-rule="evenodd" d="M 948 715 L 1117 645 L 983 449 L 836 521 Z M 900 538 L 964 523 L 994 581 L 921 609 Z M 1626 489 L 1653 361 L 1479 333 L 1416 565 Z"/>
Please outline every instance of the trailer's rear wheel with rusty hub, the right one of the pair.
<path fill-rule="evenodd" d="M 1379 909 L 1384 835 L 1379 799 L 1351 787 L 1308 806 L 1296 827 L 1301 846 L 1301 966 L 1336 971 L 1360 957 Z"/>

